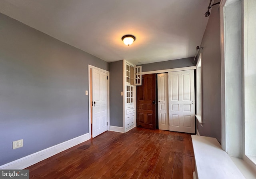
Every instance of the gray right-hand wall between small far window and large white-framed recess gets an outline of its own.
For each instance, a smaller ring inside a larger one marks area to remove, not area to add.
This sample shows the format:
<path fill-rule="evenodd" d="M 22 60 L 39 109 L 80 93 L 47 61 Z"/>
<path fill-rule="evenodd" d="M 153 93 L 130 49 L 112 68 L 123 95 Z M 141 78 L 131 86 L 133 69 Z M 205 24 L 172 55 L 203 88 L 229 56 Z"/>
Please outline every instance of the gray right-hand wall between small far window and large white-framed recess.
<path fill-rule="evenodd" d="M 202 118 L 204 127 L 201 127 L 198 122 L 197 127 L 200 135 L 215 137 L 221 143 L 221 59 L 218 5 L 211 9 L 200 47 L 204 48 L 200 49 L 198 53 L 202 52 Z"/>

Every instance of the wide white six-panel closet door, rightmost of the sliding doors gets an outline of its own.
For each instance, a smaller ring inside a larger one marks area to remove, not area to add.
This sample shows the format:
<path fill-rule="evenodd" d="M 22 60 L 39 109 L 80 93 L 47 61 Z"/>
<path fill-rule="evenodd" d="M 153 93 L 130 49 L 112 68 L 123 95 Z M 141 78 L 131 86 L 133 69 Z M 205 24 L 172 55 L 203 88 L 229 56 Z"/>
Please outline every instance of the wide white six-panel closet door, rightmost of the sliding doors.
<path fill-rule="evenodd" d="M 195 133 L 194 71 L 168 73 L 170 131 Z"/>

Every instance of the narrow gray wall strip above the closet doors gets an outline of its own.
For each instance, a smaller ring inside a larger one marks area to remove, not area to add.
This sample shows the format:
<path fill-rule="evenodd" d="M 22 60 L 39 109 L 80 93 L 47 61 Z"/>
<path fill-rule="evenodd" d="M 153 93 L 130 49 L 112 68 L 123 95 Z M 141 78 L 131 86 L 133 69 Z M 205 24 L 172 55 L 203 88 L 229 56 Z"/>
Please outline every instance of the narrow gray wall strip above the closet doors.
<path fill-rule="evenodd" d="M 195 49 L 196 52 L 196 49 Z M 164 62 L 156 62 L 151 64 L 143 64 L 142 66 L 142 72 L 150 72 L 155 70 L 167 70 L 172 68 L 182 68 L 182 67 L 188 67 L 188 66 L 195 66 L 196 64 L 193 64 L 194 57 L 190 58 L 181 58 L 177 60 L 168 60 Z M 140 65 L 138 65 L 140 66 Z"/>

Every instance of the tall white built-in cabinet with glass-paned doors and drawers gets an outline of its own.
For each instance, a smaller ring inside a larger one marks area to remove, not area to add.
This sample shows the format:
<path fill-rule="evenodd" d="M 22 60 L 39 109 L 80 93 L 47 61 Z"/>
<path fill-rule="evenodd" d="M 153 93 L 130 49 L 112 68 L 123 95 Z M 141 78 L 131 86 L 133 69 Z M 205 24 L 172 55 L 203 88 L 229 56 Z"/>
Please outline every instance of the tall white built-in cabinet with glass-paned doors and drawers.
<path fill-rule="evenodd" d="M 136 85 L 141 85 L 141 66 L 123 61 L 124 65 L 124 132 L 136 126 Z"/>

